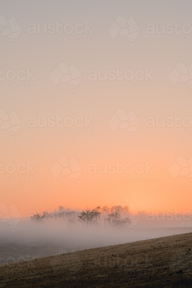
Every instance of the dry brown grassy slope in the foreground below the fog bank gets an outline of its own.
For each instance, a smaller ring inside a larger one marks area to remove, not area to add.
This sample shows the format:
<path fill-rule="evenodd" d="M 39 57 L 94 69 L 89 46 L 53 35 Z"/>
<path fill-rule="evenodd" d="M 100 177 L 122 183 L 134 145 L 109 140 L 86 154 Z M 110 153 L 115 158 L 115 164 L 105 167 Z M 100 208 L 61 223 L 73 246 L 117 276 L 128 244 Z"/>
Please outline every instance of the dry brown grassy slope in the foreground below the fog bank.
<path fill-rule="evenodd" d="M 0 287 L 192 287 L 192 233 L 4 264 Z"/>

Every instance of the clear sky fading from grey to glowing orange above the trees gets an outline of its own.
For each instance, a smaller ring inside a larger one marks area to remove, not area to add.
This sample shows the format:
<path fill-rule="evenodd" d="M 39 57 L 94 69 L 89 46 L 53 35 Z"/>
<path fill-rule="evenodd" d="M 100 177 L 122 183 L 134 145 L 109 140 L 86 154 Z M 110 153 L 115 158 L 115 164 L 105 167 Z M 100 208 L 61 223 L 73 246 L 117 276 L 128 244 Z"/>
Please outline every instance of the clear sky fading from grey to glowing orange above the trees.
<path fill-rule="evenodd" d="M 191 210 L 191 5 L 1 1 L 0 202 Z"/>

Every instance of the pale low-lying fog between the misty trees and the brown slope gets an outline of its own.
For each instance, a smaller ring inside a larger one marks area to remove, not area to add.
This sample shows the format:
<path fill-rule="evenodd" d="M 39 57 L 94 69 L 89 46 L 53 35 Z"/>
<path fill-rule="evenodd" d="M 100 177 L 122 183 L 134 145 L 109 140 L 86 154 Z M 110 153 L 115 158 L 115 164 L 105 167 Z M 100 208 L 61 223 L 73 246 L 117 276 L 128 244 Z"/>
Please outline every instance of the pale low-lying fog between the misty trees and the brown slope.
<path fill-rule="evenodd" d="M 0 223 L 1 264 L 55 255 L 59 251 L 71 252 L 192 232 L 191 215 L 156 217 L 129 213 L 132 222 L 124 227 L 110 227 L 107 222 L 105 225 L 105 215 L 101 215 L 101 224 L 96 227 L 96 223 L 79 222 L 74 212 L 72 215 L 68 211 L 71 213 L 68 218 L 64 213 L 41 220 L 22 219 L 17 227 Z"/>

